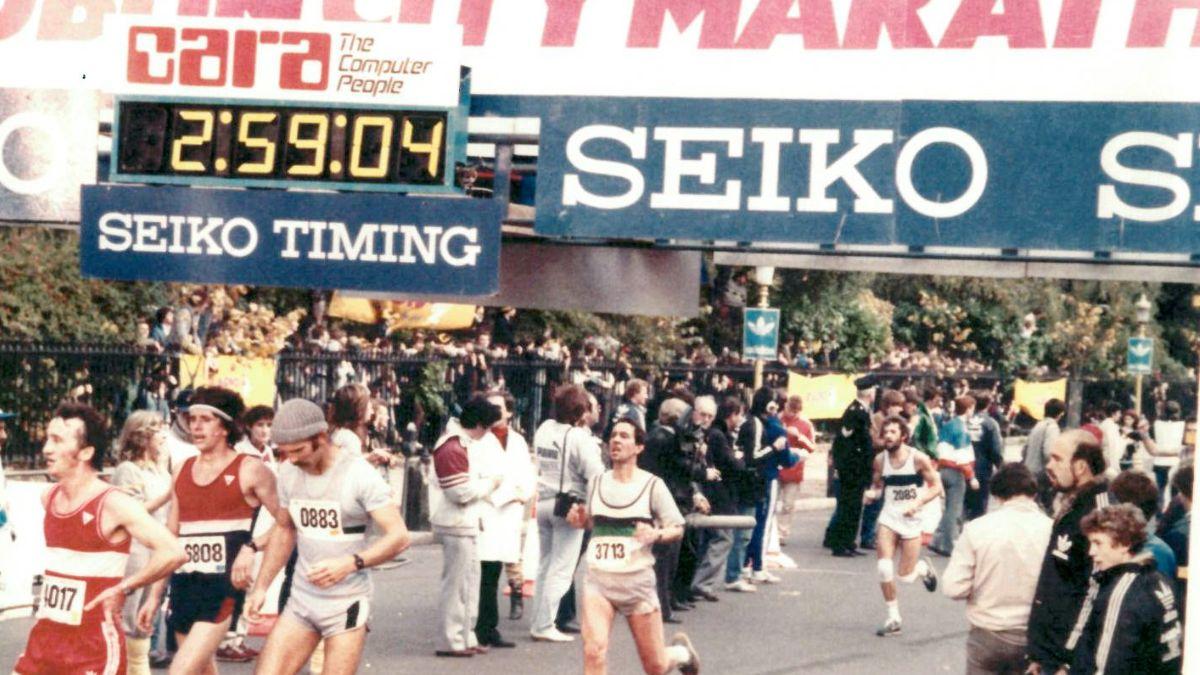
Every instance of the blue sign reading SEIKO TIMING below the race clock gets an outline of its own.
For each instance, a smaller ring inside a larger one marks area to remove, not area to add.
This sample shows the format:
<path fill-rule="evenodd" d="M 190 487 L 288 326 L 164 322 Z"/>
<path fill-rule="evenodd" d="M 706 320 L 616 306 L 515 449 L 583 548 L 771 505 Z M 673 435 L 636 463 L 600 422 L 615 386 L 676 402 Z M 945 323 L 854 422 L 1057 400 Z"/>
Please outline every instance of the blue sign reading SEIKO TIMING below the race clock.
<path fill-rule="evenodd" d="M 83 273 L 102 279 L 488 295 L 491 199 L 100 185 L 83 189 Z"/>

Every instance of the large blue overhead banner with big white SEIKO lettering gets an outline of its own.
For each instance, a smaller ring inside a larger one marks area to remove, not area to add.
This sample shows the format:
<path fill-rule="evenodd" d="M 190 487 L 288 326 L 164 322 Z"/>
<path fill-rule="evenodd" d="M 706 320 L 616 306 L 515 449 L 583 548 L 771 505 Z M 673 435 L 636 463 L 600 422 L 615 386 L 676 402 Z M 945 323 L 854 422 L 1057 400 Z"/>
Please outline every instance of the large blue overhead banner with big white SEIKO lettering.
<path fill-rule="evenodd" d="M 560 98 L 536 229 L 1194 255 L 1198 133 L 1182 103 Z"/>

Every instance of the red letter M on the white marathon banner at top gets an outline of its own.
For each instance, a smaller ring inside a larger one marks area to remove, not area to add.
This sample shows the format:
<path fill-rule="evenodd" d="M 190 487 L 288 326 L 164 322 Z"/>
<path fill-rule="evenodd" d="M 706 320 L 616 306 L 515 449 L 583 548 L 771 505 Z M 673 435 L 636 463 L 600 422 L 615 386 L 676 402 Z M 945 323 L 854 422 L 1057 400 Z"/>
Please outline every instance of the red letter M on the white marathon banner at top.
<path fill-rule="evenodd" d="M 680 31 L 704 16 L 700 26 L 701 49 L 728 49 L 738 29 L 740 0 L 634 0 L 626 47 L 658 47 L 667 13 Z"/>

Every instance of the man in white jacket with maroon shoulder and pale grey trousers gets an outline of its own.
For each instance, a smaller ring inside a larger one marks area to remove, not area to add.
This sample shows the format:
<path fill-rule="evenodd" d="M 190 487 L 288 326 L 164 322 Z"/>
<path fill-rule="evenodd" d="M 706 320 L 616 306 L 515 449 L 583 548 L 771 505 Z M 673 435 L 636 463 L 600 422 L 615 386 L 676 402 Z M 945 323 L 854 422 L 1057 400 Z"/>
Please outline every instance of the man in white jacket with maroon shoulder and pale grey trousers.
<path fill-rule="evenodd" d="M 437 656 L 470 657 L 487 647 L 475 639 L 479 610 L 480 509 L 503 477 L 485 474 L 470 464 L 470 448 L 500 419 L 500 411 L 482 395 L 472 396 L 458 416 L 460 429 L 443 436 L 433 450 L 437 489 L 431 495 L 430 521 L 442 542 L 442 596 Z M 494 442 L 494 441 L 493 441 Z M 476 453 L 478 454 L 478 453 Z"/>

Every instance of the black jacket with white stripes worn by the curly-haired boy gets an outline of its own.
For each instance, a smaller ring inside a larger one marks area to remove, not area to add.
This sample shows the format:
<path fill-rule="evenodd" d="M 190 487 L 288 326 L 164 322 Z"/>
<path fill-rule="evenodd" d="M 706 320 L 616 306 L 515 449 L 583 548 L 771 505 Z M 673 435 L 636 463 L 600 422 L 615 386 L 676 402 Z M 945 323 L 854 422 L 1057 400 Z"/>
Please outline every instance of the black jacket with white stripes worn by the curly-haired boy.
<path fill-rule="evenodd" d="M 1067 641 L 1072 675 L 1177 675 L 1183 634 L 1171 585 L 1146 554 L 1098 572 Z"/>

